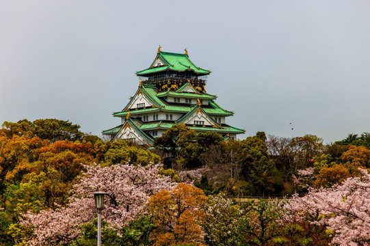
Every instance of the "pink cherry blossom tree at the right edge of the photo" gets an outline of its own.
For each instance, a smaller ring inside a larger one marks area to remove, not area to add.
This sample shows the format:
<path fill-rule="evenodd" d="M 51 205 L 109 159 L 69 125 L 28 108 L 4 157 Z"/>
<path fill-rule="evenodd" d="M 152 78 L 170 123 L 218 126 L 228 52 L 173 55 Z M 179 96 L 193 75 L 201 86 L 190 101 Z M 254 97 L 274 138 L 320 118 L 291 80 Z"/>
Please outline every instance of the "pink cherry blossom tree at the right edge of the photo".
<path fill-rule="evenodd" d="M 325 225 L 334 245 L 370 245 L 370 174 L 348 178 L 331 188 L 310 189 L 304 197 L 289 202 L 291 215 L 304 219 L 317 215 L 315 224 Z"/>

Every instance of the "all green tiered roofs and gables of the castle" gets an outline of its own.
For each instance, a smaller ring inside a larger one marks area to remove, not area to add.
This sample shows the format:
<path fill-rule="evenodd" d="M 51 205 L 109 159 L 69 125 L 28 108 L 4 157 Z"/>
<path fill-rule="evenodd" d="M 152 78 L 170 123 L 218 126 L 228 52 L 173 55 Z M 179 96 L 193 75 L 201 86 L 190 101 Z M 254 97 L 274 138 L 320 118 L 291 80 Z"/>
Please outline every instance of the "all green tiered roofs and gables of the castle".
<path fill-rule="evenodd" d="M 215 102 L 217 96 L 207 94 L 205 92 L 205 83 L 202 80 L 198 80 L 198 76 L 207 75 L 211 71 L 196 67 L 189 59 L 186 49 L 185 54 L 179 54 L 162 52 L 159 47 L 153 64 L 148 69 L 136 72 L 136 74 L 138 76 L 150 77 L 157 72 L 163 71 L 176 71 L 179 72 L 180 76 L 175 79 L 168 79 L 168 81 L 167 79 L 166 81 L 159 81 L 159 83 L 156 81 L 150 81 L 150 79 L 148 79 L 148 81 L 144 81 L 144 83 L 140 81 L 137 92 L 135 93 L 135 96 L 131 97 L 129 104 L 124 107 L 122 111 L 113 113 L 114 117 L 126 118 L 127 120 L 120 126 L 103 131 L 103 135 L 111 135 L 116 138 L 119 137 L 118 135 L 122 135 L 124 131 L 131 131 L 131 133 L 135 135 L 140 135 L 140 137 L 149 144 L 153 144 L 153 137 L 146 134 L 147 131 L 168 129 L 174 126 L 174 124 L 185 124 L 189 128 L 198 132 L 212 131 L 220 133 L 225 137 L 228 137 L 229 133 L 239 134 L 245 132 L 243 129 L 228 126 L 227 124 L 220 124 L 220 122 L 217 122 L 214 119 L 215 116 L 233 115 L 233 111 L 227 111 L 217 105 Z M 190 79 L 181 77 L 183 76 L 181 75 L 181 72 L 188 71 L 193 72 L 191 74 L 196 74 L 195 77 L 191 77 Z M 140 103 L 135 101 L 139 99 L 135 98 L 143 97 L 146 102 L 146 107 L 135 108 L 133 106 L 135 103 L 140 105 Z M 189 98 L 191 99 L 191 102 L 194 103 L 168 102 L 168 97 Z M 200 100 L 205 103 L 200 103 Z M 161 111 L 166 113 L 180 113 L 183 114 L 183 116 L 177 121 L 142 121 L 142 115 Z M 192 124 L 196 119 L 195 117 L 203 118 L 204 121 L 207 121 L 207 124 L 203 126 Z"/>

